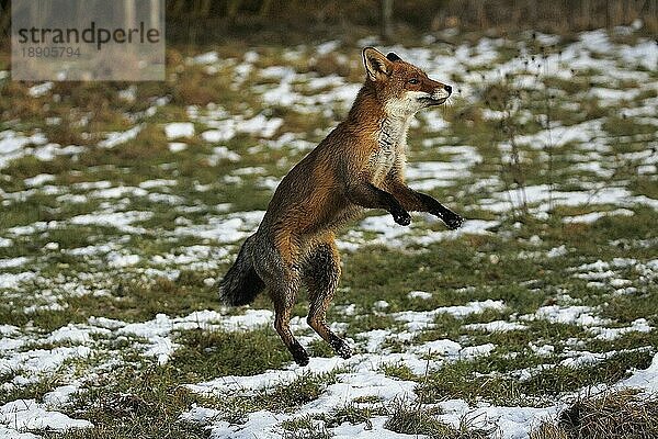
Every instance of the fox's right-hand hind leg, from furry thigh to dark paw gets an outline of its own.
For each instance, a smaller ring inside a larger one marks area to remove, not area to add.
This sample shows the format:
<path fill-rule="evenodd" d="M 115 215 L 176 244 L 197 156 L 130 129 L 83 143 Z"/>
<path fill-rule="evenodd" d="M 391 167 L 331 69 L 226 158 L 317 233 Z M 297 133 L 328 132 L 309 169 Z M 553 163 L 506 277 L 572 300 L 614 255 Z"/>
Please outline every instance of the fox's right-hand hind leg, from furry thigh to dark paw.
<path fill-rule="evenodd" d="M 327 308 L 340 279 L 340 257 L 333 243 L 325 243 L 316 247 L 308 256 L 303 281 L 308 289 L 309 309 L 307 322 L 336 353 L 348 359 L 352 349 L 338 337 L 327 325 Z"/>

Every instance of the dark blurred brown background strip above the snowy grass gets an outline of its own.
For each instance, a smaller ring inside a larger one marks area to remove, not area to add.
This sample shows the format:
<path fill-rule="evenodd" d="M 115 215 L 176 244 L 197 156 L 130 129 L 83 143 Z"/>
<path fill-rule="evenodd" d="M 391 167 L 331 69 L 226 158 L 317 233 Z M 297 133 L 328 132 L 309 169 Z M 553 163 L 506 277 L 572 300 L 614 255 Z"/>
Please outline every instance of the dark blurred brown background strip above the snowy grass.
<path fill-rule="evenodd" d="M 129 5 L 132 0 L 127 0 Z M 0 1 L 8 37 L 10 0 Z M 231 38 L 302 43 L 381 33 L 388 38 L 458 27 L 506 33 L 534 29 L 577 32 L 629 24 L 658 31 L 657 0 L 167 0 L 169 44 L 219 44 Z M 7 42 L 5 42 L 7 44 Z"/>

